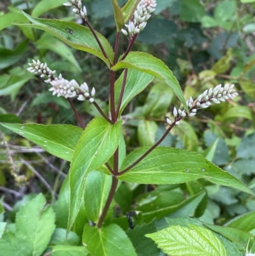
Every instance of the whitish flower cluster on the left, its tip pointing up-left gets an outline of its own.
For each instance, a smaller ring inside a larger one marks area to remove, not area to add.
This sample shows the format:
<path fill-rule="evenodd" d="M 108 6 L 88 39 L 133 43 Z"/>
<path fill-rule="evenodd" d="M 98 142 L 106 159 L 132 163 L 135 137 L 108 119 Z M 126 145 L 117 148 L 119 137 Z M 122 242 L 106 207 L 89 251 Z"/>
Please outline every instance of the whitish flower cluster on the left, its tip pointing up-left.
<path fill-rule="evenodd" d="M 27 68 L 29 72 L 41 74 L 41 77 L 48 77 L 45 82 L 51 84 L 52 87 L 49 91 L 52 91 L 53 95 L 57 94 L 58 97 L 64 96 L 65 98 L 77 97 L 77 99 L 81 101 L 89 100 L 91 103 L 94 102 L 96 90 L 93 87 L 91 93 L 89 93 L 89 86 L 87 86 L 87 83 L 84 82 L 79 85 L 74 79 L 69 81 L 62 78 L 61 74 L 59 77 L 54 77 L 55 70 L 50 70 L 47 63 L 41 63 L 39 60 L 33 60 L 33 63 L 29 63 L 29 66 L 31 66 L 30 68 Z"/>

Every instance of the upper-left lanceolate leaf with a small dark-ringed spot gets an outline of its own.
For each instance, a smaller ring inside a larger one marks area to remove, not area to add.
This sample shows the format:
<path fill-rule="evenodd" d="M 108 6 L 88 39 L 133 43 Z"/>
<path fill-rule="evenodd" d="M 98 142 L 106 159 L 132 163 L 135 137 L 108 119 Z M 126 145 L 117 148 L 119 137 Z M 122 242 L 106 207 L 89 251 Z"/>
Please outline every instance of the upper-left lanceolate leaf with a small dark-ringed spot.
<path fill-rule="evenodd" d="M 18 24 L 19 26 L 34 27 L 36 29 L 46 31 L 75 49 L 84 50 L 85 52 L 89 52 L 99 57 L 108 66 L 110 66 L 105 56 L 103 56 L 103 52 L 101 51 L 98 42 L 94 38 L 90 29 L 87 27 L 81 26 L 75 22 L 52 19 L 38 19 L 33 18 L 26 13 L 24 13 L 24 15 L 27 17 L 27 19 L 33 22 L 33 24 Z M 101 44 L 103 45 L 103 48 L 105 49 L 105 52 L 108 55 L 110 61 L 112 61 L 113 50 L 110 43 L 101 34 L 97 32 L 96 34 L 101 41 Z"/>

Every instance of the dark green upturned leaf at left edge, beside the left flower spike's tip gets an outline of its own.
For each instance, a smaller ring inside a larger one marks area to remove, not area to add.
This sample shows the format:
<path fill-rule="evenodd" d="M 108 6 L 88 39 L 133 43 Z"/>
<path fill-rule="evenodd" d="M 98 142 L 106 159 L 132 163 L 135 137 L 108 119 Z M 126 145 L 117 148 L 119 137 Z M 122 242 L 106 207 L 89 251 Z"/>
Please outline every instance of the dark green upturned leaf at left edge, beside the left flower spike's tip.
<path fill-rule="evenodd" d="M 22 41 L 15 50 L 6 49 L 0 46 L 0 69 L 7 68 L 24 57 L 27 45 L 27 40 L 25 40 Z"/>

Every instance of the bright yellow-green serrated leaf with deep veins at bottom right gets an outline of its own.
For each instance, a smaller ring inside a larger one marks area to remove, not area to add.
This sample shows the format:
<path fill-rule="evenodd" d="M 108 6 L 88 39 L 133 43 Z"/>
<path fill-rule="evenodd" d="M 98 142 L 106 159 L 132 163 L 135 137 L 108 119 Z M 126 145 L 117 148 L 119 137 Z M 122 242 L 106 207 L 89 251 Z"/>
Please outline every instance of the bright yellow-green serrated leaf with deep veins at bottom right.
<path fill-rule="evenodd" d="M 171 226 L 147 237 L 171 256 L 227 256 L 224 246 L 212 231 L 191 224 L 189 227 Z"/>

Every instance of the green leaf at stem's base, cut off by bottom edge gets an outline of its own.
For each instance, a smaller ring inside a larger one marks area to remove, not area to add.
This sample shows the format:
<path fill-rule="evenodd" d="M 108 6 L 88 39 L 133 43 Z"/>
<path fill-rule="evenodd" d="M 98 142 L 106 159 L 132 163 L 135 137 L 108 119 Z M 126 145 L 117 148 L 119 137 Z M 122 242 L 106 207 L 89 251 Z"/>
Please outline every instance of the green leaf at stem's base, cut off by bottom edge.
<path fill-rule="evenodd" d="M 128 236 L 118 225 L 91 227 L 85 225 L 82 242 L 93 256 L 136 256 Z"/>

